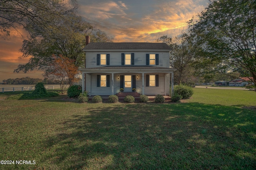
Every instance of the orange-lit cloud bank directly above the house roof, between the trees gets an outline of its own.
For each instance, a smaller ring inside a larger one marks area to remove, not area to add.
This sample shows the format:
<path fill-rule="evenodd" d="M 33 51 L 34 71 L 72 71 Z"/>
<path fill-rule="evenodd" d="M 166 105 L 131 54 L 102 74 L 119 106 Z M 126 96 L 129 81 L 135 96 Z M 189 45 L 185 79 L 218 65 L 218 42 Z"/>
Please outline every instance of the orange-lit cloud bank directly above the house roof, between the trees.
<path fill-rule="evenodd" d="M 204 10 L 207 0 L 161 0 L 136 2 L 132 10 L 128 1 L 103 2 L 82 6 L 87 21 L 114 37 L 114 42 L 153 42 L 156 35 L 173 37 L 187 28 L 187 21 Z M 125 2 L 125 3 L 124 3 Z M 130 2 L 132 3 L 132 2 Z M 140 3 L 140 4 L 139 4 Z M 138 9 L 141 10 L 138 11 Z M 90 18 L 87 17 L 88 14 Z M 160 37 L 159 36 L 159 37 Z"/>

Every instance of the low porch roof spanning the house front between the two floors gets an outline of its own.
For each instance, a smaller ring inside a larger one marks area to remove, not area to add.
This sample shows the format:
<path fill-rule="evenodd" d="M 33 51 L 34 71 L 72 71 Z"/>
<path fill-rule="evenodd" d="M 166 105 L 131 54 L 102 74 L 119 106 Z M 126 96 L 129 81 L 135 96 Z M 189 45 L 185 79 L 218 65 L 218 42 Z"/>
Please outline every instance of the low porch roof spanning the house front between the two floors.
<path fill-rule="evenodd" d="M 92 68 L 81 68 L 82 72 L 166 72 L 176 71 L 176 68 L 165 68 L 158 66 L 102 66 Z"/>

